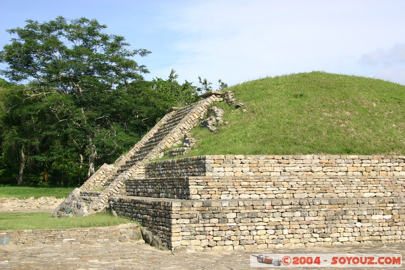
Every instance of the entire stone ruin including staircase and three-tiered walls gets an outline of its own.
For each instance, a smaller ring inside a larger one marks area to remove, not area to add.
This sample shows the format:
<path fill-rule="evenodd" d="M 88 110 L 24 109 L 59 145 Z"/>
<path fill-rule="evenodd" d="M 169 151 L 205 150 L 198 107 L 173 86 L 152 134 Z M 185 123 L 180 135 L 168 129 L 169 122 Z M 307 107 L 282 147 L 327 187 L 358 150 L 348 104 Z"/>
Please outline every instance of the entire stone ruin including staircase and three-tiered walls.
<path fill-rule="evenodd" d="M 405 156 L 153 161 L 165 152 L 182 155 L 193 144 L 188 131 L 201 121 L 215 131 L 222 112 L 207 111 L 221 101 L 243 105 L 232 93 L 210 92 L 171 110 L 127 155 L 75 189 L 53 216 L 107 210 L 139 221 L 147 242 L 173 251 L 405 241 Z"/>

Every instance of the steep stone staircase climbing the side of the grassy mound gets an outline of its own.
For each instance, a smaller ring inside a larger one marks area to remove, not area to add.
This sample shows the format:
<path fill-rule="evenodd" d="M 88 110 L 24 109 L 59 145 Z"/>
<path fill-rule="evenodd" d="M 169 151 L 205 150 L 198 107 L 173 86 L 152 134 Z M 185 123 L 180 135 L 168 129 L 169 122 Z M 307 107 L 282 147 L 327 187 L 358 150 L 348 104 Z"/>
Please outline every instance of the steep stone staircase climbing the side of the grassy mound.
<path fill-rule="evenodd" d="M 125 156 L 114 164 L 104 164 L 82 186 L 58 207 L 53 216 L 87 215 L 105 211 L 108 198 L 126 195 L 126 181 L 142 178 L 145 164 L 162 157 L 164 151 L 179 144 L 185 134 L 204 117 L 208 107 L 224 100 L 222 92 L 208 92 L 201 100 L 184 108 L 172 108 Z M 102 191 L 93 191 L 100 189 Z M 69 212 L 69 213 L 67 213 Z"/>

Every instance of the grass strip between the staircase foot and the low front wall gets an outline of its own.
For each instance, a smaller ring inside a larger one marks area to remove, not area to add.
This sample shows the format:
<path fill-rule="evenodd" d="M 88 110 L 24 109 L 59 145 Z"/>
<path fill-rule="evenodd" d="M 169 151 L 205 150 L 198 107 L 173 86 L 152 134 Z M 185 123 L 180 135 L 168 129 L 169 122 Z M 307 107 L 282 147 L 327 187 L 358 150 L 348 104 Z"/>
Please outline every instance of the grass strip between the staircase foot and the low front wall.
<path fill-rule="evenodd" d="M 126 218 L 114 217 L 108 214 L 96 214 L 86 217 L 70 218 L 52 218 L 50 213 L 0 214 L 0 230 L 106 227 L 128 222 L 133 221 Z"/>

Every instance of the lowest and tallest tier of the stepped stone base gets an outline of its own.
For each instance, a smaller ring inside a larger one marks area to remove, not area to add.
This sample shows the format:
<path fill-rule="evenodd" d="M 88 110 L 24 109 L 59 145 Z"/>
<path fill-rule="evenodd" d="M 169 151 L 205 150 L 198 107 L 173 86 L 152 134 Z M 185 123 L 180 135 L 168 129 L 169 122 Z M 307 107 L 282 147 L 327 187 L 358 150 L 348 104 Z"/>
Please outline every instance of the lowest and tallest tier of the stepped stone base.
<path fill-rule="evenodd" d="M 111 197 L 110 207 L 120 216 L 143 222 L 172 250 L 405 241 L 405 198 L 205 201 Z"/>

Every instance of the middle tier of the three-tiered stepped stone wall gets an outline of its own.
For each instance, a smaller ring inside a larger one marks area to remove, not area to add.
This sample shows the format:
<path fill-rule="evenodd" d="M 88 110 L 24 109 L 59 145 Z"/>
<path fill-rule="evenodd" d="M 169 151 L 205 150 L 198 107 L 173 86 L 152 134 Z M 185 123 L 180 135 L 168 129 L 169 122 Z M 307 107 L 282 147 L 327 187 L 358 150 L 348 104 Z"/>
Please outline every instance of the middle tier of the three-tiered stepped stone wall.
<path fill-rule="evenodd" d="M 405 177 L 200 176 L 134 178 L 127 195 L 171 199 L 304 199 L 405 197 Z"/>

